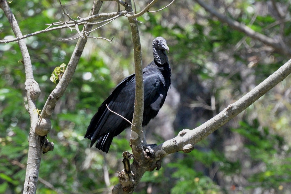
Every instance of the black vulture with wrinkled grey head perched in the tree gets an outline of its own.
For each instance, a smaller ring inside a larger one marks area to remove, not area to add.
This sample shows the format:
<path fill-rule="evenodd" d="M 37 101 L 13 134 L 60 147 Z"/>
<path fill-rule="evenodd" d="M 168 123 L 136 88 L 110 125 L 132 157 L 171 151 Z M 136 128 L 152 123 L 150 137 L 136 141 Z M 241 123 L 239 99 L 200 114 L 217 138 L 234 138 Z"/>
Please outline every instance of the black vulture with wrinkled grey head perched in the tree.
<path fill-rule="evenodd" d="M 163 37 L 155 38 L 152 42 L 152 50 L 154 60 L 143 69 L 143 127 L 157 116 L 171 85 L 171 68 L 166 55 L 166 51 L 169 52 L 169 47 L 166 40 Z M 135 74 L 132 74 L 116 86 L 91 119 L 85 135 L 85 138 L 91 140 L 90 147 L 97 141 L 96 148 L 108 152 L 113 137 L 130 127 L 129 122 L 113 112 L 132 121 L 134 97 Z M 110 112 L 106 105 L 113 112 Z"/>

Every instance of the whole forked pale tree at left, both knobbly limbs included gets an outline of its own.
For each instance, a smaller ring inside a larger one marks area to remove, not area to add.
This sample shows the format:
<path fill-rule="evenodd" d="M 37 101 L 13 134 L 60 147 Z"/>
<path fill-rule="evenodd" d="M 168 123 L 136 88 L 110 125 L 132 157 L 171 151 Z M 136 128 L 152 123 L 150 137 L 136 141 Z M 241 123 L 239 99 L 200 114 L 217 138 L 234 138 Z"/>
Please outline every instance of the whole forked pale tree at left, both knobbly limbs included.
<path fill-rule="evenodd" d="M 96 14 L 102 5 L 102 1 L 97 1 L 95 5 L 95 9 L 93 9 L 93 14 Z M 8 21 L 13 29 L 13 32 L 16 37 L 21 37 L 21 31 L 17 24 L 17 21 L 11 12 L 8 2 L 6 0 L 0 1 L 0 8 L 4 11 Z M 90 14 L 91 15 L 91 14 Z M 91 25 L 86 25 L 84 30 L 90 30 L 92 28 Z M 26 167 L 26 176 L 24 182 L 24 191 L 23 193 L 36 193 L 36 184 L 38 182 L 38 174 L 39 174 L 39 167 L 40 161 L 42 157 L 42 152 L 44 151 L 42 148 L 48 144 L 48 141 L 45 139 L 44 135 L 51 128 L 51 121 L 50 116 L 56 102 L 58 99 L 63 95 L 68 83 L 72 78 L 72 74 L 74 73 L 74 69 L 76 68 L 77 62 L 81 56 L 83 48 L 85 46 L 87 39 L 79 39 L 79 44 L 77 44 L 73 57 L 69 63 L 69 67 L 66 69 L 63 78 L 61 79 L 59 84 L 56 86 L 54 91 L 52 91 L 51 95 L 49 96 L 45 107 L 42 112 L 42 119 L 38 121 L 38 114 L 35 114 L 36 105 L 35 102 L 40 95 L 40 89 L 38 83 L 33 78 L 33 69 L 31 65 L 31 60 L 29 57 L 29 53 L 25 44 L 24 40 L 19 40 L 19 48 L 22 53 L 23 57 L 23 64 L 25 68 L 25 91 L 26 91 L 26 98 L 28 101 L 29 107 L 29 115 L 31 119 L 31 128 L 29 133 L 29 151 L 28 151 L 28 159 L 27 159 L 27 167 Z M 83 47 L 82 47 L 83 46 Z M 68 81 L 67 81 L 68 80 Z M 45 151 L 52 150 L 53 144 L 49 143 L 49 148 Z"/>

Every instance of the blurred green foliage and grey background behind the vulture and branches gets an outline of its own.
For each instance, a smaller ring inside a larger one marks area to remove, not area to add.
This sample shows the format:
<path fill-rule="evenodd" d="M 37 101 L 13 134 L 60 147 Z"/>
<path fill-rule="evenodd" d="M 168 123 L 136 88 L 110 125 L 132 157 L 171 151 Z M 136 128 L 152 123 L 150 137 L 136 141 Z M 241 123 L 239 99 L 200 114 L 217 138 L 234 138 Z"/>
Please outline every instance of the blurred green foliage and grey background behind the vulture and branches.
<path fill-rule="evenodd" d="M 92 2 L 62 1 L 72 18 L 86 17 Z M 144 3 L 144 5 L 143 5 Z M 144 7 L 148 1 L 139 2 Z M 170 1 L 159 1 L 158 10 Z M 209 0 L 214 10 L 258 33 L 290 45 L 290 1 Z M 116 2 L 105 2 L 102 12 Z M 10 7 L 29 34 L 55 21 L 66 21 L 57 1 L 12 1 Z M 139 9 L 139 7 L 137 7 Z M 117 7 L 115 8 L 117 10 Z M 175 1 L 168 8 L 139 17 L 143 64 L 152 59 L 151 42 L 167 39 L 172 87 L 157 118 L 146 127 L 148 143 L 161 143 L 193 129 L 253 89 L 284 64 L 289 55 L 254 40 L 212 17 L 196 1 Z M 84 139 L 99 105 L 124 77 L 134 72 L 132 41 L 126 18 L 92 33 L 73 80 L 52 118 L 37 193 L 110 193 L 130 151 L 129 130 L 113 140 L 105 155 Z M 12 30 L 0 10 L 0 39 Z M 67 64 L 76 41 L 69 29 L 26 39 L 40 85 L 39 107 L 54 83 L 54 68 Z M 286 48 L 288 49 L 288 47 Z M 0 193 L 22 193 L 28 151 L 29 114 L 24 103 L 24 67 L 17 43 L 0 44 Z M 146 173 L 136 193 L 290 193 L 290 76 L 235 119 L 196 145 L 189 154 L 163 160 L 162 169 Z"/>

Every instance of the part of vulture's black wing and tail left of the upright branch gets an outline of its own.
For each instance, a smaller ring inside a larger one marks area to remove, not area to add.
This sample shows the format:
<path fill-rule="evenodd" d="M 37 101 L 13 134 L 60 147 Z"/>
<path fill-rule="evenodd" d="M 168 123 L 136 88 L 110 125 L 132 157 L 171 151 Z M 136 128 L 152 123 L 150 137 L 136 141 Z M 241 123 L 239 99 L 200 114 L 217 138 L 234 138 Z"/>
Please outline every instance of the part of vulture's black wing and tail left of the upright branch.
<path fill-rule="evenodd" d="M 106 105 L 113 112 L 127 118 L 130 114 L 127 110 L 130 111 L 134 106 L 134 93 L 132 93 L 134 88 L 135 76 L 132 74 L 120 82 L 111 95 L 104 100 L 98 112 L 91 119 L 85 135 L 85 138 L 91 140 L 91 147 L 98 140 L 96 148 L 108 152 L 113 137 L 117 135 L 116 133 L 119 134 L 130 126 L 129 123 L 124 122 L 123 118 L 110 112 Z"/>

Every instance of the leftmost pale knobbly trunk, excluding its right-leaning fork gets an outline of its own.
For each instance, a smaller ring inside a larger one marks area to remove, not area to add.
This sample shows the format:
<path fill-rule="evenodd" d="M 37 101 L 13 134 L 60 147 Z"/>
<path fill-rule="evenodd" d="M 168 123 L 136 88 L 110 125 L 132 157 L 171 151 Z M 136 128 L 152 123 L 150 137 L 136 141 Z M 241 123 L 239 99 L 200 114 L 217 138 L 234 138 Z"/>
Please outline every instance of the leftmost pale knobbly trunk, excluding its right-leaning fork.
<path fill-rule="evenodd" d="M 13 33 L 16 37 L 22 36 L 20 28 L 17 24 L 17 21 L 10 10 L 8 2 L 6 0 L 0 1 L 0 8 L 4 11 L 10 26 L 13 30 Z M 22 59 L 25 69 L 25 91 L 26 91 L 26 98 L 28 103 L 29 109 L 29 116 L 30 116 L 30 136 L 29 136 L 29 152 L 28 152 L 28 159 L 27 159 L 27 167 L 26 167 L 26 176 L 25 176 L 25 183 L 24 183 L 24 193 L 35 193 L 36 192 L 36 182 L 40 167 L 40 159 L 42 155 L 41 151 L 41 138 L 39 138 L 35 134 L 35 124 L 38 121 L 38 114 L 34 113 L 36 110 L 36 100 L 40 95 L 40 88 L 38 83 L 33 78 L 33 69 L 31 65 L 30 56 L 25 44 L 24 40 L 19 40 L 18 45 L 20 51 L 22 53 Z M 37 146 L 38 145 L 38 146 Z M 35 178 L 36 176 L 36 178 Z"/>

